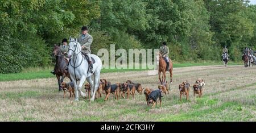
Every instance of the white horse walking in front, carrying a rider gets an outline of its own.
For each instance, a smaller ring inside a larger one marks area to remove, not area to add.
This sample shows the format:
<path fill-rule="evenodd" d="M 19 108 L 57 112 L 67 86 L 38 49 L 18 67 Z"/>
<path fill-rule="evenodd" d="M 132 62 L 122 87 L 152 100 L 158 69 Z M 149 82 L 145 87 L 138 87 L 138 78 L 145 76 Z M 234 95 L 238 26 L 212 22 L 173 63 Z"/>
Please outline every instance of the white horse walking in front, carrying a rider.
<path fill-rule="evenodd" d="M 69 49 L 68 49 L 68 57 L 70 58 L 71 62 L 68 66 L 68 71 L 72 81 L 74 82 L 75 86 L 75 101 L 79 101 L 79 94 L 80 92 L 81 97 L 85 98 L 86 94 L 82 92 L 82 84 L 84 84 L 85 79 L 89 82 L 91 86 L 91 93 L 92 98 L 90 101 L 94 101 L 96 90 L 98 89 L 98 81 L 100 78 L 102 62 L 100 57 L 96 55 L 91 55 L 91 57 L 95 60 L 93 64 L 93 72 L 89 72 L 89 64 L 88 61 L 84 59 L 84 56 L 81 53 L 81 45 L 77 42 L 77 39 L 72 39 L 69 37 Z M 92 81 L 92 74 L 94 74 L 94 81 Z M 79 81 L 79 85 L 77 86 L 77 81 Z M 94 85 L 93 85 L 94 82 Z"/>

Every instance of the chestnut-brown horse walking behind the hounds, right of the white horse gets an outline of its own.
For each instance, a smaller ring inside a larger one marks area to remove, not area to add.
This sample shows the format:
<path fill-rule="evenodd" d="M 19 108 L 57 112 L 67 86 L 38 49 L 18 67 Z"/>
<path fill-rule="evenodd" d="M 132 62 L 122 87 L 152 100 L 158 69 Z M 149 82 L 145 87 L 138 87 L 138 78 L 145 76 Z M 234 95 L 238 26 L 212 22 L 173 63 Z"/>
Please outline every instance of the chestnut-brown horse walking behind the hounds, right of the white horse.
<path fill-rule="evenodd" d="M 158 65 L 158 78 L 159 78 L 159 80 L 160 80 L 160 82 L 161 82 L 161 84 L 163 84 L 163 82 L 166 82 L 166 66 L 167 66 L 167 64 L 166 64 L 166 61 L 163 59 L 163 57 L 159 54 L 158 55 L 159 56 L 159 65 Z M 171 84 L 172 84 L 172 69 L 173 69 L 173 67 L 172 67 L 172 60 L 171 59 L 169 59 L 169 72 L 170 72 L 170 77 L 171 77 Z M 161 76 L 161 73 L 163 73 L 163 75 L 162 75 L 162 78 L 160 78 L 160 76 Z"/>

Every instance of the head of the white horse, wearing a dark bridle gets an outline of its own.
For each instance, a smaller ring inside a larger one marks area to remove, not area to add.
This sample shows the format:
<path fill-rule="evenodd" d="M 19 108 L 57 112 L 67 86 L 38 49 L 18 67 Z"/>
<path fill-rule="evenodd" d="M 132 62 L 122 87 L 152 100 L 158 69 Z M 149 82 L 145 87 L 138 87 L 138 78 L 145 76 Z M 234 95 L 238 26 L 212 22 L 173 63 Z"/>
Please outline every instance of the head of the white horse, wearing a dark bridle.
<path fill-rule="evenodd" d="M 68 49 L 68 57 L 71 58 L 71 56 L 77 55 L 81 52 L 81 46 L 79 42 L 77 42 L 77 39 L 72 39 L 69 37 L 69 49 Z"/>

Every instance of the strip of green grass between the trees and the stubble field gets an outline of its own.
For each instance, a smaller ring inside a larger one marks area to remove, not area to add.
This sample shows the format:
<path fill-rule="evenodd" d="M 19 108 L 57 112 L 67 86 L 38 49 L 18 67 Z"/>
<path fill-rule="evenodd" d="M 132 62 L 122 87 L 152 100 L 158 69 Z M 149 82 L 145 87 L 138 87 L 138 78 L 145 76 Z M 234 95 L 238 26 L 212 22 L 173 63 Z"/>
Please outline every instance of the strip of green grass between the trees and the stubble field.
<path fill-rule="evenodd" d="M 203 62 L 203 63 L 174 63 L 174 68 L 181 68 L 187 66 L 204 66 L 204 65 L 222 65 L 216 62 Z M 230 62 L 229 65 L 241 65 L 241 63 Z M 31 80 L 35 78 L 52 78 L 55 77 L 50 72 L 54 66 L 47 66 L 45 68 L 35 67 L 26 68 L 20 73 L 0 73 L 0 81 L 15 81 L 15 80 Z M 112 72 L 130 72 L 130 71 L 141 71 L 148 69 L 102 69 L 101 73 L 112 73 Z"/>

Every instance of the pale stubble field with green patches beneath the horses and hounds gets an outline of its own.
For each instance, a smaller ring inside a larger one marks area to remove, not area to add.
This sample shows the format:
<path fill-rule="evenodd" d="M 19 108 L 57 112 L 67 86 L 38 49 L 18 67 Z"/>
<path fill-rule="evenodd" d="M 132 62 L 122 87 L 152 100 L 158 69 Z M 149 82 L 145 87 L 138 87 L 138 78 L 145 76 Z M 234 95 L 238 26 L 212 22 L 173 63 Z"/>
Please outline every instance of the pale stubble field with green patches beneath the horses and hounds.
<path fill-rule="evenodd" d="M 242 65 L 191 66 L 174 68 L 174 83 L 170 94 L 164 95 L 162 107 L 148 107 L 144 95 L 136 93 L 135 100 L 115 101 L 110 95 L 89 102 L 63 99 L 56 78 L 0 82 L 0 121 L 256 121 L 256 67 Z M 169 74 L 167 74 L 169 76 Z M 203 97 L 179 101 L 178 85 L 188 80 L 193 84 L 204 78 Z M 146 71 L 102 73 L 111 82 L 128 79 L 143 87 L 156 89 L 158 76 Z M 170 81 L 170 77 L 167 77 Z M 67 79 L 66 79 L 67 81 Z M 84 92 L 84 89 L 83 89 Z"/>

